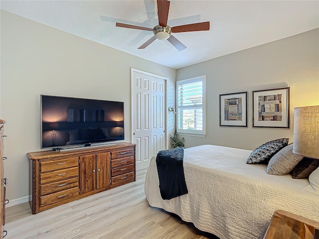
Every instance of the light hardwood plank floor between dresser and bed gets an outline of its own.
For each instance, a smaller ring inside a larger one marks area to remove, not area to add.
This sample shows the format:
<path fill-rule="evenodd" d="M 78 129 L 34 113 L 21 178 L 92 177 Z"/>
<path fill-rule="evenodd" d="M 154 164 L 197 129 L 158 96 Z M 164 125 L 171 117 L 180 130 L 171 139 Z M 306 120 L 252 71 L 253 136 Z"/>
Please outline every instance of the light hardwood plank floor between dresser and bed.
<path fill-rule="evenodd" d="M 28 203 L 7 208 L 5 239 L 215 239 L 150 207 L 145 176 L 146 170 L 140 170 L 136 182 L 35 215 Z"/>

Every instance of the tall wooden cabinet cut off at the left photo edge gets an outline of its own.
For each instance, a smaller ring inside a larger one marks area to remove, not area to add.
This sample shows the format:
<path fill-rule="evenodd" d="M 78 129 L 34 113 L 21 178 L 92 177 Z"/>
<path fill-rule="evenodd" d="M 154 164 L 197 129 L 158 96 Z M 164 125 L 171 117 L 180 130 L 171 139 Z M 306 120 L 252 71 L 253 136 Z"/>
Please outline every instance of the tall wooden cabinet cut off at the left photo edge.
<path fill-rule="evenodd" d="M 3 160 L 6 159 L 6 157 L 3 156 L 3 137 L 5 137 L 4 133 L 4 123 L 5 121 L 0 119 L 0 179 L 1 179 L 1 190 L 0 190 L 0 199 L 1 199 L 1 207 L 0 207 L 0 238 L 3 238 L 6 236 L 6 231 L 3 230 L 3 226 L 5 224 L 5 204 L 8 202 L 8 200 L 5 200 L 5 187 L 7 183 L 7 178 L 3 178 Z"/>

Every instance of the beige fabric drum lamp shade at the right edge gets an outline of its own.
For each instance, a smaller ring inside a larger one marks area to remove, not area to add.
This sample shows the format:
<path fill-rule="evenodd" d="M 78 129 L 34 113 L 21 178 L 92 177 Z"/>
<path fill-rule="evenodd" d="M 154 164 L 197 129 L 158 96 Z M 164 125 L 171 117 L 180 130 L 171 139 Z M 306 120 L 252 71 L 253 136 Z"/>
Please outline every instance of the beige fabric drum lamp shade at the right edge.
<path fill-rule="evenodd" d="M 295 108 L 293 152 L 319 159 L 319 106 Z"/>

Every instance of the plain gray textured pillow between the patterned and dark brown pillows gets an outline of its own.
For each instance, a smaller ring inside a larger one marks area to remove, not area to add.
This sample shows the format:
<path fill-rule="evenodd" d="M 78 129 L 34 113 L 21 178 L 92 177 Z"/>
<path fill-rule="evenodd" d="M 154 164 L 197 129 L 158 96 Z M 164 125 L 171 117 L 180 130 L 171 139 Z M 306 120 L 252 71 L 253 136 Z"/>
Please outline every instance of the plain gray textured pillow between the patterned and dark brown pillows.
<path fill-rule="evenodd" d="M 293 144 L 281 149 L 270 160 L 267 173 L 272 175 L 286 175 L 290 173 L 304 156 L 293 153 Z"/>

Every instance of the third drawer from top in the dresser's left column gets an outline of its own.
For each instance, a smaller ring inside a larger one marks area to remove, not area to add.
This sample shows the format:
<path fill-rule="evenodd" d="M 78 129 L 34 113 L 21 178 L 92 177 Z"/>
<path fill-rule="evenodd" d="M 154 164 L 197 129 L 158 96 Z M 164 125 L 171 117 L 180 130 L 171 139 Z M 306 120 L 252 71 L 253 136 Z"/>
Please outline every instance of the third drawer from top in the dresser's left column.
<path fill-rule="evenodd" d="M 54 183 L 40 185 L 40 196 L 79 186 L 79 178 L 71 178 Z"/>

